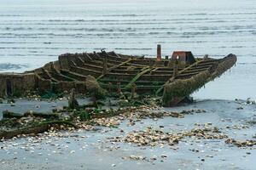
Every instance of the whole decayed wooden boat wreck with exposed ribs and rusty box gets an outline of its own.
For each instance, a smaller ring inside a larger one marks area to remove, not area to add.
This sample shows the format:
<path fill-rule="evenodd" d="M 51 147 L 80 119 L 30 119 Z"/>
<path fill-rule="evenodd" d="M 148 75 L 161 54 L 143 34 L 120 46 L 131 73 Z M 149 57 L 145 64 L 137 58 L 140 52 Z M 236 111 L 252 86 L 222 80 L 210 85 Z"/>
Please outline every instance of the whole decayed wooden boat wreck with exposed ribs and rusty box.
<path fill-rule="evenodd" d="M 61 93 L 75 89 L 85 94 L 92 88 L 108 92 L 136 92 L 160 96 L 165 106 L 177 105 L 189 94 L 219 77 L 236 64 L 236 55 L 222 59 L 202 58 L 188 51 L 171 57 L 131 56 L 115 52 L 61 54 L 33 71 L 0 74 L 0 97 L 22 96 L 28 91 Z M 95 83 L 94 83 L 95 82 Z M 96 86 L 96 87 L 94 87 Z"/>

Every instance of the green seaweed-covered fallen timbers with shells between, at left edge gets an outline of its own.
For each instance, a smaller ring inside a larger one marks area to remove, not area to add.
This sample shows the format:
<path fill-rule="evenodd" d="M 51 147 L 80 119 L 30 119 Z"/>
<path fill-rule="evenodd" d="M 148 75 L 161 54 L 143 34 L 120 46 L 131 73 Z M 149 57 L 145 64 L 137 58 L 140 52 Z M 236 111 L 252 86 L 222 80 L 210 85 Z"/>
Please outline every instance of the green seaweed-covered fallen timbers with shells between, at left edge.
<path fill-rule="evenodd" d="M 51 127 L 77 127 L 71 119 L 63 119 L 57 113 L 39 113 L 33 111 L 28 111 L 23 115 L 3 111 L 3 120 L 0 121 L 0 126 L 0 139 L 11 139 L 19 135 L 44 133 Z"/>

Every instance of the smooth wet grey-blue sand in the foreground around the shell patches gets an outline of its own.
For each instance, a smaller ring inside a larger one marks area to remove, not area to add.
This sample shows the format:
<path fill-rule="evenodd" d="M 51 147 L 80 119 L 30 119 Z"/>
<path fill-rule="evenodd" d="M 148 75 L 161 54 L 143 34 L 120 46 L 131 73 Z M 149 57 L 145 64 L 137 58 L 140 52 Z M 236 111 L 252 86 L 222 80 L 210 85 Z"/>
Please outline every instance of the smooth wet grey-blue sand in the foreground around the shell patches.
<path fill-rule="evenodd" d="M 237 110 L 237 108 L 243 108 Z M 134 126 L 128 121 L 119 127 L 97 127 L 97 131 L 62 132 L 56 136 L 8 140 L 0 143 L 1 169 L 255 169 L 256 146 L 238 148 L 224 139 L 183 139 L 177 145 L 137 146 L 111 142 L 110 137 L 125 136 L 146 127 L 168 133 L 181 132 L 195 124 L 212 123 L 233 139 L 253 139 L 256 105 L 236 101 L 205 100 L 192 105 L 163 108 L 168 111 L 203 109 L 206 113 L 184 118 L 143 119 Z M 244 125 L 244 128 L 241 126 Z M 227 128 L 230 127 L 230 128 Z M 120 132 L 123 129 L 124 132 Z M 144 157 L 131 160 L 132 156 Z"/>

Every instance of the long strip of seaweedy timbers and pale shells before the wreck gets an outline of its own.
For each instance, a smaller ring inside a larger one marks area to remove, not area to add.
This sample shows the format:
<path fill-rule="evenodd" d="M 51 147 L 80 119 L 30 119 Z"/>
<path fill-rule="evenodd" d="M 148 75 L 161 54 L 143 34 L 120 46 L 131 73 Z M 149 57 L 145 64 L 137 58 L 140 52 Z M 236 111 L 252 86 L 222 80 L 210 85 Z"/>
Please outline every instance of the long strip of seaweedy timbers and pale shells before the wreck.
<path fill-rule="evenodd" d="M 72 94 L 74 100 L 74 93 Z M 75 102 L 76 103 L 76 102 Z M 76 107 L 76 109 L 73 108 Z M 134 125 L 146 118 L 161 118 L 163 116 L 172 116 L 183 118 L 185 114 L 191 114 L 193 111 L 160 111 L 159 107 L 152 106 L 131 106 L 119 108 L 117 110 L 107 109 L 86 109 L 83 105 L 73 105 L 55 110 L 54 113 L 38 113 L 28 111 L 25 114 L 17 114 L 10 111 L 3 111 L 3 120 L 0 121 L 2 130 L 1 138 L 12 138 L 16 135 L 29 133 L 42 133 L 50 127 L 71 126 L 83 128 L 86 130 L 95 129 L 95 126 L 118 127 L 120 122 L 130 120 Z M 195 111 L 199 112 L 199 111 Z"/>

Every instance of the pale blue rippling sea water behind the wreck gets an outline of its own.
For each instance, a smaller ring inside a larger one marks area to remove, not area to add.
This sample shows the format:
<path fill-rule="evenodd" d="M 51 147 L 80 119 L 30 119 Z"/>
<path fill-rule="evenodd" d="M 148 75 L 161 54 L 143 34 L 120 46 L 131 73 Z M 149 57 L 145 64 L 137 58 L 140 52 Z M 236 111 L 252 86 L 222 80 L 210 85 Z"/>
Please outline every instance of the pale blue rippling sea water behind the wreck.
<path fill-rule="evenodd" d="M 0 72 L 102 48 L 154 56 L 158 43 L 163 55 L 237 55 L 196 99 L 256 99 L 255 0 L 0 0 Z"/>

